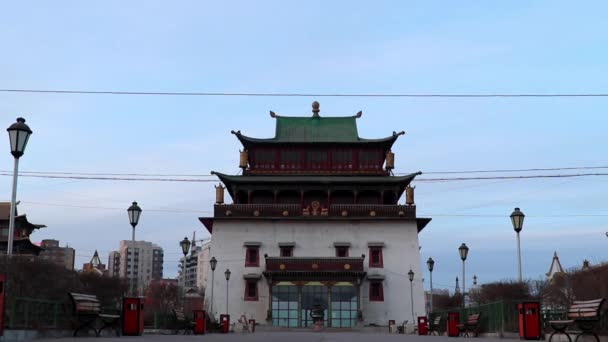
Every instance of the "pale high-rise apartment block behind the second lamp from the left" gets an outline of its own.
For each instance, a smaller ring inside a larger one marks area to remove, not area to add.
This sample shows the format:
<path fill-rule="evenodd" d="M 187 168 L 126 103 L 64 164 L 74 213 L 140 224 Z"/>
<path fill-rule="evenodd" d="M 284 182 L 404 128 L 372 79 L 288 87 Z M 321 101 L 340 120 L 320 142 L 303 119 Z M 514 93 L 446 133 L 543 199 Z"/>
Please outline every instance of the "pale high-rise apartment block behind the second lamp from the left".
<path fill-rule="evenodd" d="M 163 249 L 151 242 L 122 240 L 120 254 L 121 278 L 135 281 L 137 291 L 143 293 L 151 280 L 163 277 Z"/>

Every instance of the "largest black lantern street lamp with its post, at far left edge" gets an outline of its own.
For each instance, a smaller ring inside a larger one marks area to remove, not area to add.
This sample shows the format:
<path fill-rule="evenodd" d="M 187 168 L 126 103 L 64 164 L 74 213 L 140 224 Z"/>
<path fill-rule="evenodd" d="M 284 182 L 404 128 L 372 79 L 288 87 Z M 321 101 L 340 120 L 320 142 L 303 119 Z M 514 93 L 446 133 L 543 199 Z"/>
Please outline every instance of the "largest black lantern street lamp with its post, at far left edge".
<path fill-rule="evenodd" d="M 17 175 L 19 173 L 19 158 L 23 155 L 23 152 L 25 152 L 25 146 L 27 146 L 27 141 L 30 139 L 30 135 L 32 135 L 32 130 L 25 124 L 24 118 L 17 118 L 17 122 L 10 125 L 6 131 L 8 132 L 8 139 L 11 145 L 11 154 L 15 158 L 13 168 L 13 194 L 11 197 L 11 212 L 8 221 L 8 241 L 6 245 L 6 255 L 11 256 L 13 254 L 13 239 L 15 238 L 15 211 L 17 211 Z"/>

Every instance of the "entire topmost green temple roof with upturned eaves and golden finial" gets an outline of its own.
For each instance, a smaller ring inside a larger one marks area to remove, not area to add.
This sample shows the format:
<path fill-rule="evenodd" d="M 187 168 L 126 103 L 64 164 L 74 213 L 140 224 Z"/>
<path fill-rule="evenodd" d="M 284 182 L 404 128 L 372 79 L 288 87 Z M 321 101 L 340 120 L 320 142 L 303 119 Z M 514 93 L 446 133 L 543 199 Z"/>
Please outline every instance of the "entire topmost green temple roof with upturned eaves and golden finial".
<path fill-rule="evenodd" d="M 319 103 L 313 103 L 313 115 L 307 117 L 289 117 L 276 115 L 270 112 L 270 116 L 276 120 L 274 138 L 259 139 L 241 134 L 240 131 L 232 131 L 241 143 L 248 147 L 251 144 L 269 143 L 347 143 L 347 144 L 369 144 L 369 143 L 392 143 L 405 132 L 393 132 L 392 135 L 380 139 L 364 139 L 359 137 L 357 131 L 357 119 L 362 112 L 346 117 L 321 117 L 319 115 Z"/>

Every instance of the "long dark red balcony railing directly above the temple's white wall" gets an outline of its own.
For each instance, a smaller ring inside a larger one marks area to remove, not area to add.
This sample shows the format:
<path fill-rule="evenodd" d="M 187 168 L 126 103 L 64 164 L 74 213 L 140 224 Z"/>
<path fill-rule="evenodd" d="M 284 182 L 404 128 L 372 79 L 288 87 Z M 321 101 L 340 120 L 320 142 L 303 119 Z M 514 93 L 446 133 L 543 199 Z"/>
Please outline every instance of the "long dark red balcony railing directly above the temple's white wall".
<path fill-rule="evenodd" d="M 299 204 L 216 204 L 215 217 L 247 218 L 403 218 L 416 217 L 416 206 L 382 204 L 332 204 L 329 208 L 302 208 Z"/>

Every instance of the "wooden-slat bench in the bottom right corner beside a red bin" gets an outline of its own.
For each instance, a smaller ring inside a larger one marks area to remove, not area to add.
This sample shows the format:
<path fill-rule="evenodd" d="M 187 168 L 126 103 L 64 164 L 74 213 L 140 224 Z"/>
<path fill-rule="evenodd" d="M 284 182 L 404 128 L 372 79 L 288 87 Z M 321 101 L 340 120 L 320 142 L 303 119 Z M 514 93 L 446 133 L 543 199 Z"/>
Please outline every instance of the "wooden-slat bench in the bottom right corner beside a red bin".
<path fill-rule="evenodd" d="M 573 323 L 581 329 L 581 332 L 576 335 L 574 342 L 583 335 L 592 335 L 597 342 L 600 342 L 600 338 L 593 330 L 600 321 L 601 308 L 602 304 L 604 304 L 604 300 L 604 298 L 600 298 L 572 302 L 572 305 L 570 305 L 570 308 L 568 309 L 567 320 L 549 321 L 551 328 L 553 328 L 553 333 L 551 333 L 551 336 L 549 337 L 549 342 L 551 342 L 551 339 L 555 334 L 566 335 L 568 341 L 572 342 L 570 335 L 566 332 L 566 328 Z"/>

